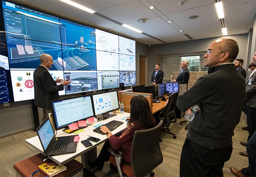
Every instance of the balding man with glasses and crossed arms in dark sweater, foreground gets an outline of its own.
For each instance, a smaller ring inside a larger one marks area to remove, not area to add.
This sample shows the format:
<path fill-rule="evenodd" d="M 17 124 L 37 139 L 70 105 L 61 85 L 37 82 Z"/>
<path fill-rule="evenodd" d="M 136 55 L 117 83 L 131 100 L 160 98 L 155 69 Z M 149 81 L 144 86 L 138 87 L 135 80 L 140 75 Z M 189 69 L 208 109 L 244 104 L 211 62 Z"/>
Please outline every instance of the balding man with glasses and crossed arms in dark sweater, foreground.
<path fill-rule="evenodd" d="M 223 176 L 222 168 L 230 159 L 232 136 L 245 100 L 245 80 L 232 63 L 238 52 L 233 39 L 212 42 L 204 55 L 208 74 L 178 96 L 177 107 L 181 111 L 190 114 L 192 106 L 200 107 L 188 124 L 180 176 Z"/>

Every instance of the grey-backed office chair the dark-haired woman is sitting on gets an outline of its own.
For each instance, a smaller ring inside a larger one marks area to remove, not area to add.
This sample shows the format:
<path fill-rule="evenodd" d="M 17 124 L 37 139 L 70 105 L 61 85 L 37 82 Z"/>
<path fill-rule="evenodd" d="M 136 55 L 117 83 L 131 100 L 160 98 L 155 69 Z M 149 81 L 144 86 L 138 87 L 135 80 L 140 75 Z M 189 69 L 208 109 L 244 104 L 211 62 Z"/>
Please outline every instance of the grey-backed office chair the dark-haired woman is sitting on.
<path fill-rule="evenodd" d="M 122 172 L 130 177 L 133 176 L 154 176 L 152 171 L 163 161 L 162 152 L 159 145 L 159 136 L 163 120 L 158 125 L 147 130 L 137 130 L 134 133 L 131 149 L 131 165 L 121 163 L 122 152 L 115 152 L 112 148 L 110 152 L 110 162 L 117 167 L 118 174 L 123 177 Z"/>

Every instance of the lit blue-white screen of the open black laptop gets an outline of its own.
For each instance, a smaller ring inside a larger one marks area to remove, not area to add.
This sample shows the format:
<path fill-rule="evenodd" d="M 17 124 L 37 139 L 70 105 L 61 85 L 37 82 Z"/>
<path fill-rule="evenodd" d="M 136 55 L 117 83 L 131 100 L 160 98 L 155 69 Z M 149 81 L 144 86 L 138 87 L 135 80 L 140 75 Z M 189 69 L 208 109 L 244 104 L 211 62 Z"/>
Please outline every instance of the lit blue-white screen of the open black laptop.
<path fill-rule="evenodd" d="M 44 121 L 42 125 L 38 127 L 37 134 L 43 145 L 44 151 L 46 151 L 54 136 L 53 128 L 49 118 L 47 118 L 46 121 Z"/>

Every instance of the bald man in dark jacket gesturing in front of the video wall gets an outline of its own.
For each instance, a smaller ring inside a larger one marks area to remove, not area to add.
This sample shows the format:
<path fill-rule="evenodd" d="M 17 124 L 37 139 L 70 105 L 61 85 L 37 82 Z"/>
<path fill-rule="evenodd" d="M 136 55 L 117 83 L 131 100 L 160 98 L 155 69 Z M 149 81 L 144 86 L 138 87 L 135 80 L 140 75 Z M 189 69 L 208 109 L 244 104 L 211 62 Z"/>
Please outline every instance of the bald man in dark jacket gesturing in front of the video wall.
<path fill-rule="evenodd" d="M 42 54 L 39 58 L 41 65 L 34 71 L 34 103 L 36 107 L 43 108 L 43 119 L 47 118 L 48 113 L 51 113 L 50 100 L 59 99 L 58 91 L 63 90 L 65 85 L 68 85 L 71 80 L 56 79 L 53 80 L 48 72 L 53 65 L 53 58 L 48 54 Z M 56 83 L 62 83 L 57 85 Z"/>

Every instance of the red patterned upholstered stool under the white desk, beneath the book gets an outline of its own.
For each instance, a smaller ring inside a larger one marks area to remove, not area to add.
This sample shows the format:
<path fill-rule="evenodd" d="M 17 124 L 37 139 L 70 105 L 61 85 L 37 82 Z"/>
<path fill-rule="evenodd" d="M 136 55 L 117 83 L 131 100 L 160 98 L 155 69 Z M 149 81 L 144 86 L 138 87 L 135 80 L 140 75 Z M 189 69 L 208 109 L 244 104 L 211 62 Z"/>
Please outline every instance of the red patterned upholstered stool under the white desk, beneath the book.
<path fill-rule="evenodd" d="M 42 154 L 37 154 L 32 157 L 29 157 L 25 160 L 17 162 L 14 164 L 14 169 L 16 170 L 17 176 L 30 177 L 32 173 L 38 170 L 37 166 L 45 163 L 42 159 L 45 159 L 45 156 L 42 157 Z M 71 160 L 68 163 L 64 164 L 67 167 L 67 170 L 59 173 L 56 177 L 64 177 L 64 176 L 75 176 L 79 172 L 81 172 L 84 167 L 82 163 Z M 45 177 L 44 173 L 41 171 L 34 173 L 33 177 Z M 81 176 L 81 175 L 80 175 Z"/>

